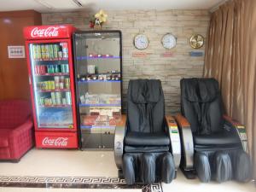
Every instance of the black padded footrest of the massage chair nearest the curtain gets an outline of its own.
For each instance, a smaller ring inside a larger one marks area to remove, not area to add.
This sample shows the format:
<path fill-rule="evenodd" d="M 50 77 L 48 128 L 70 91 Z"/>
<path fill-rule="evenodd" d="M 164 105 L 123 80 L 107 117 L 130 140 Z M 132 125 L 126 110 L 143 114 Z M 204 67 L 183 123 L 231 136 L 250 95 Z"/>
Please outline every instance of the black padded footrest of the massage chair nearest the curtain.
<path fill-rule="evenodd" d="M 251 174 L 251 161 L 242 150 L 196 152 L 195 171 L 201 182 L 216 180 L 218 183 L 236 179 L 247 182 Z"/>

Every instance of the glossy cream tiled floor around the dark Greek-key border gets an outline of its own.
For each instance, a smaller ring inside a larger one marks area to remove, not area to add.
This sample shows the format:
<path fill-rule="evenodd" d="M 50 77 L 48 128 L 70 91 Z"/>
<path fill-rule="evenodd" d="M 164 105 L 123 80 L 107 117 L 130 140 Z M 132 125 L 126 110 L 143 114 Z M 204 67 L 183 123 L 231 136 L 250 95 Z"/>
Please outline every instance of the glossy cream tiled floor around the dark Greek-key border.
<path fill-rule="evenodd" d="M 0 162 L 0 176 L 36 177 L 117 177 L 117 169 L 111 151 L 43 150 L 32 149 L 19 163 Z M 170 184 L 162 183 L 164 192 L 255 192 L 253 183 L 201 183 L 188 180 L 178 172 L 177 179 Z M 99 187 L 99 186 L 98 186 Z M 100 188 L 100 187 L 99 187 Z M 42 189 L 42 188 L 0 188 L 1 192 L 58 192 L 58 191 L 102 191 L 113 189 Z M 142 189 L 115 189 L 126 192 Z M 158 191 L 160 191 L 158 190 Z"/>

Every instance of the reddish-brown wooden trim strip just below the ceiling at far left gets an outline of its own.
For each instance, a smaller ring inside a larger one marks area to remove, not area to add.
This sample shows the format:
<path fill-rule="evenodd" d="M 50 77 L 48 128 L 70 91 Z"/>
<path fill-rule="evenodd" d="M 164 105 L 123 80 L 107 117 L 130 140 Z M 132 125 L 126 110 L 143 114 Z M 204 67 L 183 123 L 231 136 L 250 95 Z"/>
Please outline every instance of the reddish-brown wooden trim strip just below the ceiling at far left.
<path fill-rule="evenodd" d="M 0 18 L 3 17 L 41 17 L 41 14 L 35 10 L 21 10 L 21 11 L 3 11 L 0 12 Z"/>

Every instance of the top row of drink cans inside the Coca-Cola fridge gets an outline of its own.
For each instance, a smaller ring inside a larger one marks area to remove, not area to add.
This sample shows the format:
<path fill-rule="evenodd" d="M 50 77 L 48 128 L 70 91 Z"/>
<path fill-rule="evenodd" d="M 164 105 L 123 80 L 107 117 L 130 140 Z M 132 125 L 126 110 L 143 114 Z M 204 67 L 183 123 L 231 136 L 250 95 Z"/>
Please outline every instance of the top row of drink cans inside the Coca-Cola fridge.
<path fill-rule="evenodd" d="M 68 58 L 67 43 L 32 44 L 34 60 L 65 60 Z"/>

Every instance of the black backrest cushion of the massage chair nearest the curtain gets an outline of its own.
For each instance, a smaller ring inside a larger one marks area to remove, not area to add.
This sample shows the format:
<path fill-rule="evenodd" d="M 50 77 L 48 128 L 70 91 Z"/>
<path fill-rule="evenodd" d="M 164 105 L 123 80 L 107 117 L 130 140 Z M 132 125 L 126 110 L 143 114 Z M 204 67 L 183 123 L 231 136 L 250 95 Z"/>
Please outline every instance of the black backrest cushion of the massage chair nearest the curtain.
<path fill-rule="evenodd" d="M 223 106 L 216 79 L 182 79 L 181 110 L 192 132 L 210 134 L 224 125 Z"/>

